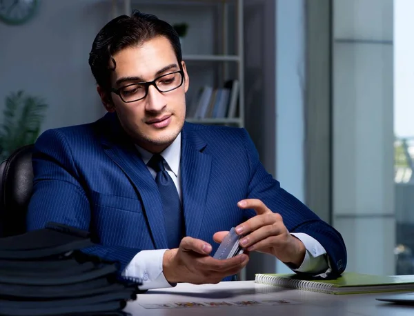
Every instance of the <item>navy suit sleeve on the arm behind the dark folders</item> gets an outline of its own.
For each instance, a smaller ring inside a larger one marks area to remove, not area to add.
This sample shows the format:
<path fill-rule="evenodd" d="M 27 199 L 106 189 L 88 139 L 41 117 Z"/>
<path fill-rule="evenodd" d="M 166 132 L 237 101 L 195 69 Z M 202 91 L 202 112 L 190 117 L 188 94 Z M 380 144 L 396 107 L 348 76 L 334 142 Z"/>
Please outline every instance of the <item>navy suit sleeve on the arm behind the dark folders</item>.
<path fill-rule="evenodd" d="M 28 230 L 43 228 L 48 221 L 89 230 L 91 211 L 88 197 L 72 159 L 70 146 L 58 130 L 44 132 L 32 153 L 33 192 L 28 205 Z M 97 244 L 83 249 L 108 261 L 119 262 L 120 272 L 139 249 Z"/>

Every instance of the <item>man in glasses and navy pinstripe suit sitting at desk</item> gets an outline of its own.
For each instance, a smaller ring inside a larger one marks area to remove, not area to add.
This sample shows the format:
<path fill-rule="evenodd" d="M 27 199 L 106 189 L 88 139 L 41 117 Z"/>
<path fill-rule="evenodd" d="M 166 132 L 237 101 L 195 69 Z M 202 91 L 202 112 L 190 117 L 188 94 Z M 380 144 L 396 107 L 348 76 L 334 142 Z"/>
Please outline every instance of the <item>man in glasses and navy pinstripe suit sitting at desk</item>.
<path fill-rule="evenodd" d="M 89 63 L 108 113 L 39 137 L 28 229 L 90 230 L 99 244 L 86 251 L 119 261 L 142 289 L 228 280 L 251 251 L 298 273 L 342 273 L 341 235 L 266 172 L 246 130 L 185 122 L 190 79 L 172 26 L 117 17 Z M 214 259 L 233 226 L 246 253 Z"/>

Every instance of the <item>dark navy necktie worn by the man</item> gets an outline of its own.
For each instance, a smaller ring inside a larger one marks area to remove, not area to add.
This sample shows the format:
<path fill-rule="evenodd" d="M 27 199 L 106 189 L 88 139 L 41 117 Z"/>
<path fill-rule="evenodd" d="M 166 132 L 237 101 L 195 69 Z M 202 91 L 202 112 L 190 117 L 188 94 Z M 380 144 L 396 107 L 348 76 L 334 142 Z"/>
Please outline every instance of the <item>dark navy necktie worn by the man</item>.
<path fill-rule="evenodd" d="M 177 188 L 164 168 L 164 158 L 161 155 L 153 155 L 148 161 L 148 166 L 157 172 L 155 182 L 161 195 L 164 210 L 168 248 L 178 248 L 183 237 L 184 225 Z"/>

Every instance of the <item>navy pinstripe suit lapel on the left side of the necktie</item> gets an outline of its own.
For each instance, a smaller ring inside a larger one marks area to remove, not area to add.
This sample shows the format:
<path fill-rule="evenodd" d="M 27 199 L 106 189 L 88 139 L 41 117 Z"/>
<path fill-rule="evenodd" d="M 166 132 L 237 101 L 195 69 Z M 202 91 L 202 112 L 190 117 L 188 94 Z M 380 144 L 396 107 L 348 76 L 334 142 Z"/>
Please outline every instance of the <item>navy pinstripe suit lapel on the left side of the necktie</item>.
<path fill-rule="evenodd" d="M 110 120 L 112 128 L 108 129 L 106 125 L 106 128 L 110 130 L 110 136 L 107 135 L 108 137 L 101 139 L 104 150 L 110 159 L 124 171 L 141 196 L 155 247 L 157 249 L 168 248 L 162 202 L 157 184 L 152 179 L 144 161 L 139 157 L 137 149 L 121 130 L 116 117 L 111 117 Z"/>

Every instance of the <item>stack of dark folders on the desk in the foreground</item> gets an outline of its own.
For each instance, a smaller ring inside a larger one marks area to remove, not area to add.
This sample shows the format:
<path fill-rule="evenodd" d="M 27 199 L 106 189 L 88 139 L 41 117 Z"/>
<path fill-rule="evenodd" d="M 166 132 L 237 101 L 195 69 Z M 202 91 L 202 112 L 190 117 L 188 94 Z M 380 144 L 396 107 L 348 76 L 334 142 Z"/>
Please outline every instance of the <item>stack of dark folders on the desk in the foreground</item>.
<path fill-rule="evenodd" d="M 61 224 L 0 238 L 0 315 L 126 315 L 137 285 L 86 255 L 88 232 Z"/>

